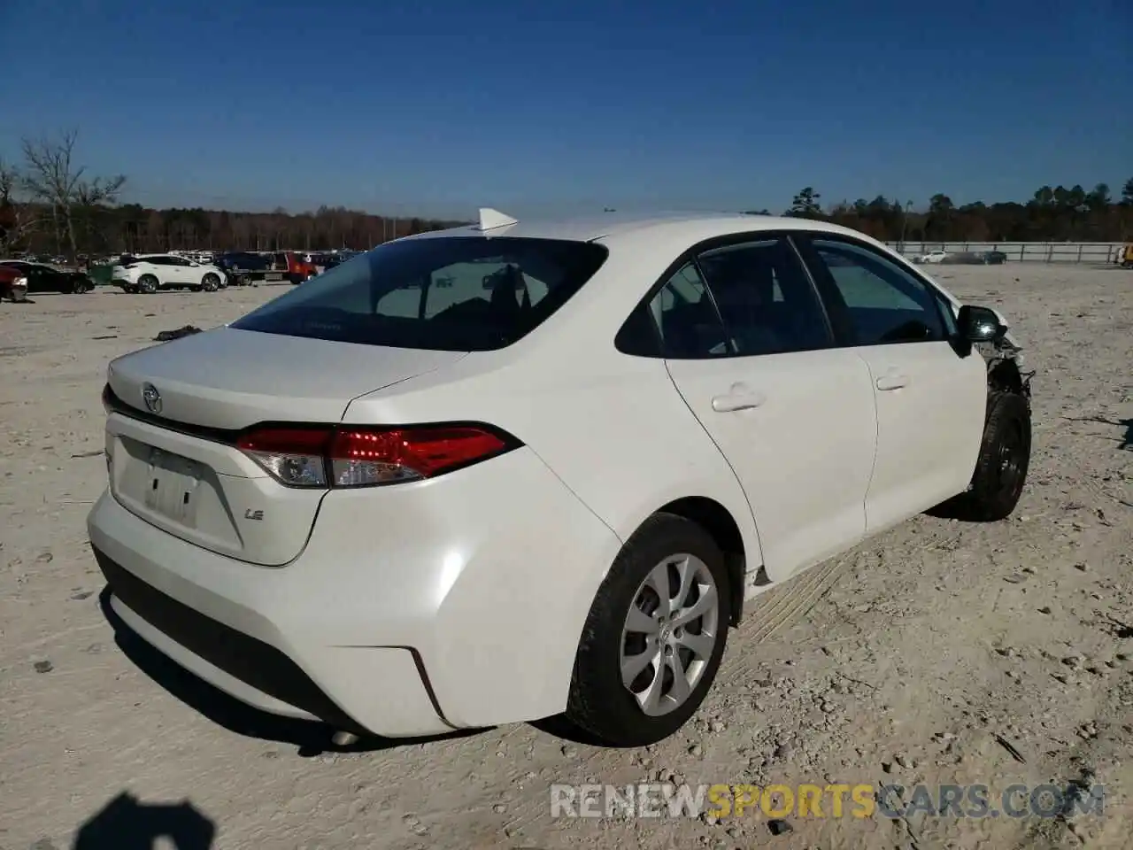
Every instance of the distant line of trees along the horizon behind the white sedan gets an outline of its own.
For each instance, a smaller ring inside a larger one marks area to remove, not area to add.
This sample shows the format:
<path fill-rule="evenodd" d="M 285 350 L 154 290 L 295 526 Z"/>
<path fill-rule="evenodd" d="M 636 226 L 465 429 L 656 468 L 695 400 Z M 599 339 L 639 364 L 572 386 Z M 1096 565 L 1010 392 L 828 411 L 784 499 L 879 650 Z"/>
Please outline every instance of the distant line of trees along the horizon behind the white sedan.
<path fill-rule="evenodd" d="M 389 239 L 461 222 L 391 218 L 344 207 L 270 213 L 155 210 L 119 203 L 126 177 L 92 176 L 78 163 L 78 133 L 25 139 L 18 161 L 0 158 L 0 256 L 16 250 L 83 254 L 214 250 L 365 249 Z M 944 194 L 927 209 L 878 195 L 824 209 L 812 187 L 785 215 L 821 219 L 885 241 L 1125 241 L 1133 240 L 1133 178 L 1114 197 L 1099 184 L 1042 186 L 1025 203 L 957 206 Z M 751 210 L 768 213 L 768 210 Z"/>

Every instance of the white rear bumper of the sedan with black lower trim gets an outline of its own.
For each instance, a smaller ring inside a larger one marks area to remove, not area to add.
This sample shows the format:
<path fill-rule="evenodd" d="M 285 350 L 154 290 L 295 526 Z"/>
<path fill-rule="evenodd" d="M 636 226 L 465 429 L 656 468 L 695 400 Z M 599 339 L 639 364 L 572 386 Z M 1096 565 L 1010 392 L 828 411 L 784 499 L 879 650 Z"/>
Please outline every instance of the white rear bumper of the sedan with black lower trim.
<path fill-rule="evenodd" d="M 110 493 L 88 530 L 111 605 L 173 661 L 257 708 L 387 737 L 562 711 L 621 545 L 527 449 L 332 492 L 283 568 L 186 543 Z"/>

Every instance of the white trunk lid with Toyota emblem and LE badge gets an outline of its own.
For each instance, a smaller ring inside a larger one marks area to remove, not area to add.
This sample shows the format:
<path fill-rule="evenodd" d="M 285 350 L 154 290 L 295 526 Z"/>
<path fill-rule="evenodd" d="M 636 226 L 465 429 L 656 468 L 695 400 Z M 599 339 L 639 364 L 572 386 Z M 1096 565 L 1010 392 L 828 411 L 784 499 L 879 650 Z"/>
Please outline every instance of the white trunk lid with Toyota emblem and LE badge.
<path fill-rule="evenodd" d="M 181 539 L 282 566 L 306 544 L 326 491 L 276 482 L 236 448 L 239 432 L 338 423 L 351 399 L 463 356 L 231 328 L 127 355 L 108 369 L 111 492 Z"/>

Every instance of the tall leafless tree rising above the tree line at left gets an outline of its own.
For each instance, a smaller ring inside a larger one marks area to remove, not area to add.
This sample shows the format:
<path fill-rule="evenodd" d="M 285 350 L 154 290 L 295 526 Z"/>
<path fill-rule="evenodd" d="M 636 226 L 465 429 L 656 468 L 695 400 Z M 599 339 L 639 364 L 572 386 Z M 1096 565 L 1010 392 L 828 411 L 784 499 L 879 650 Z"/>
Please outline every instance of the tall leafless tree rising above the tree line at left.
<path fill-rule="evenodd" d="M 33 201 L 50 211 L 56 238 L 61 243 L 66 237 L 73 260 L 78 254 L 76 218 L 112 204 L 126 184 L 122 175 L 86 178 L 86 167 L 75 163 L 78 130 L 68 130 L 58 138 L 24 139 L 25 187 Z"/>

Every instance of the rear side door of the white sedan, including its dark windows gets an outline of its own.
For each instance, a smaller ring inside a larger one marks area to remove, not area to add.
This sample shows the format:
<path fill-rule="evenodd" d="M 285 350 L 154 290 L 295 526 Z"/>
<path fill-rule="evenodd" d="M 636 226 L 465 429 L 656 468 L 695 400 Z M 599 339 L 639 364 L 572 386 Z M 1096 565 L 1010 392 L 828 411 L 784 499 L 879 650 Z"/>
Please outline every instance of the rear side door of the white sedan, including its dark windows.
<path fill-rule="evenodd" d="M 748 496 L 768 577 L 860 539 L 877 433 L 869 369 L 834 347 L 790 239 L 698 254 L 650 309 L 673 382 Z"/>

